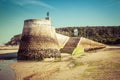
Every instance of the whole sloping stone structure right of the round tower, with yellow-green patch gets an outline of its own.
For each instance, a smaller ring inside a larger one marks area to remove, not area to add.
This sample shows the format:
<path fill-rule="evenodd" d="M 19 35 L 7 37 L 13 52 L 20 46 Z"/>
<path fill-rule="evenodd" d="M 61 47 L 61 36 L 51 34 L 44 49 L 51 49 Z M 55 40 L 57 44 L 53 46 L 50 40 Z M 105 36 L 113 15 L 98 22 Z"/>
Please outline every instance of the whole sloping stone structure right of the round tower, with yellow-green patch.
<path fill-rule="evenodd" d="M 84 37 L 68 37 L 62 34 L 56 34 L 61 53 L 81 53 L 81 51 L 89 51 L 105 48 L 106 45 L 84 38 Z M 77 50 L 77 51 L 76 51 Z"/>

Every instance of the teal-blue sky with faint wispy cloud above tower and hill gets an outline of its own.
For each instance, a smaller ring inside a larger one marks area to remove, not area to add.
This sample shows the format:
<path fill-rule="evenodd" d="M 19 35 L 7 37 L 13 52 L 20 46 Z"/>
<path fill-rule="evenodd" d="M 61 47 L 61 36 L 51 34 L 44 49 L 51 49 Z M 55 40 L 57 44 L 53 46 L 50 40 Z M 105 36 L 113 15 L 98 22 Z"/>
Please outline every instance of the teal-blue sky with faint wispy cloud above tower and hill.
<path fill-rule="evenodd" d="M 120 0 L 0 0 L 0 44 L 22 33 L 25 19 L 48 11 L 56 28 L 120 25 Z"/>

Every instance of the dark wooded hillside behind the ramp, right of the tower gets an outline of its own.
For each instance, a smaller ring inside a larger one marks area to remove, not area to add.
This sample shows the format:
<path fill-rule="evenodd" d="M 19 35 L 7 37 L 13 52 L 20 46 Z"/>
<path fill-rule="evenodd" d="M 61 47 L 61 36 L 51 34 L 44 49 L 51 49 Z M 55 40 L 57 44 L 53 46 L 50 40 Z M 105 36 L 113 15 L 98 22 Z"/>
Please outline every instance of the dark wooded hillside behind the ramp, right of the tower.
<path fill-rule="evenodd" d="M 78 37 L 85 37 L 105 44 L 120 44 L 120 26 L 66 27 L 57 28 L 56 32 L 74 37 L 74 29 L 78 29 Z"/>

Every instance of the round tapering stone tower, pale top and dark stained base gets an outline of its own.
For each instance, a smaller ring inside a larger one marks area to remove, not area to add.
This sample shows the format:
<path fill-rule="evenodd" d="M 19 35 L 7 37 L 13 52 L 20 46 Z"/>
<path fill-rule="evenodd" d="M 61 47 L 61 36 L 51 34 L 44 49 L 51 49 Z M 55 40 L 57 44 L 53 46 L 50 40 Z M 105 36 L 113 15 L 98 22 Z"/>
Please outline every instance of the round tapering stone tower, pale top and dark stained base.
<path fill-rule="evenodd" d="M 25 20 L 18 60 L 42 60 L 50 57 L 61 57 L 51 20 L 48 18 Z"/>

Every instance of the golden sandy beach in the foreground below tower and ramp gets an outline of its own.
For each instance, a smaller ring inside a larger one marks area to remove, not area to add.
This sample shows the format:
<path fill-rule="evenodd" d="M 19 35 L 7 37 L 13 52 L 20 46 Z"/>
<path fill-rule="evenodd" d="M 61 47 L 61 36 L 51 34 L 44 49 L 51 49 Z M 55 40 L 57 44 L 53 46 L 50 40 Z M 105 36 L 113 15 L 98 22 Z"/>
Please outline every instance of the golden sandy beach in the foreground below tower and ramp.
<path fill-rule="evenodd" d="M 16 80 L 120 80 L 120 47 L 109 46 L 76 59 L 63 53 L 60 62 L 17 61 L 9 66 Z"/>

